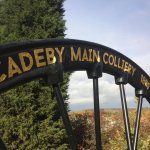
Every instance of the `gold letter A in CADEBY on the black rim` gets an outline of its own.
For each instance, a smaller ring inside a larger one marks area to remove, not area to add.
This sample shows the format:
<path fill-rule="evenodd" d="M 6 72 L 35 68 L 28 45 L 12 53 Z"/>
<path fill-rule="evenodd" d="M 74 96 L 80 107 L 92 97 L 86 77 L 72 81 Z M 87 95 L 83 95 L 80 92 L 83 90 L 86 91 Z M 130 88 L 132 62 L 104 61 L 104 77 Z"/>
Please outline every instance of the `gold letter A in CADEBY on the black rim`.
<path fill-rule="evenodd" d="M 8 78 L 13 77 L 16 73 L 21 74 L 22 71 L 15 61 L 11 57 L 8 57 Z"/>

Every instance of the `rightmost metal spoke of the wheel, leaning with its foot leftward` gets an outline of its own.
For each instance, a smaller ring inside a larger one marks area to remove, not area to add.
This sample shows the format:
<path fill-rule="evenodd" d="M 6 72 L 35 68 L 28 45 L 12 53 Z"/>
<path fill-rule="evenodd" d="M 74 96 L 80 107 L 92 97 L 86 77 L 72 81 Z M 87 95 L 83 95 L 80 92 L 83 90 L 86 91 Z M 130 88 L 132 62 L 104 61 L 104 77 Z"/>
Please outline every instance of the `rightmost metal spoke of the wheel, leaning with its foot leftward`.
<path fill-rule="evenodd" d="M 143 102 L 143 96 L 140 95 L 139 100 L 138 100 L 138 106 L 137 106 L 137 114 L 136 114 L 135 130 L 134 130 L 134 140 L 133 140 L 133 150 L 137 150 L 142 102 Z"/>

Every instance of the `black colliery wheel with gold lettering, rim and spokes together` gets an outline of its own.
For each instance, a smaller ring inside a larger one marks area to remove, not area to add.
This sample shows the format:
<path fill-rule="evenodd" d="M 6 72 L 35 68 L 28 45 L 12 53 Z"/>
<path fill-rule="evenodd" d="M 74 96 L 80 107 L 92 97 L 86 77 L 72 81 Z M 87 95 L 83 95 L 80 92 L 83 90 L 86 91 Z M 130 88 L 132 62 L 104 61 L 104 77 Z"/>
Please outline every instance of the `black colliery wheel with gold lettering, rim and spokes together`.
<path fill-rule="evenodd" d="M 35 78 L 43 78 L 48 85 L 53 86 L 70 147 L 76 150 L 76 139 L 59 88 L 65 71 L 86 71 L 88 78 L 93 80 L 97 150 L 102 149 L 98 78 L 102 77 L 103 72 L 114 76 L 120 89 L 128 149 L 137 149 L 143 98 L 150 102 L 150 76 L 136 63 L 111 48 L 80 40 L 44 39 L 0 45 L 0 92 Z M 124 89 L 127 83 L 135 88 L 138 97 L 133 139 Z"/>

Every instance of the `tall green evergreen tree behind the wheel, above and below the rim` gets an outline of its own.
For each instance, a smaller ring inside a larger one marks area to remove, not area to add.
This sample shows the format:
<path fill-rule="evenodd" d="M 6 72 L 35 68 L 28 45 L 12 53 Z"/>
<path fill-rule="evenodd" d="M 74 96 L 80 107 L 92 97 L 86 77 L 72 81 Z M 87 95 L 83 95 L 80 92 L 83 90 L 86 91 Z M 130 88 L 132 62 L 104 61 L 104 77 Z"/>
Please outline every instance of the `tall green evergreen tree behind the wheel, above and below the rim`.
<path fill-rule="evenodd" d="M 1 0 L 0 43 L 63 38 L 64 0 Z M 69 74 L 61 86 L 67 103 Z M 53 90 L 39 80 L 0 95 L 0 136 L 9 149 L 68 149 Z"/>

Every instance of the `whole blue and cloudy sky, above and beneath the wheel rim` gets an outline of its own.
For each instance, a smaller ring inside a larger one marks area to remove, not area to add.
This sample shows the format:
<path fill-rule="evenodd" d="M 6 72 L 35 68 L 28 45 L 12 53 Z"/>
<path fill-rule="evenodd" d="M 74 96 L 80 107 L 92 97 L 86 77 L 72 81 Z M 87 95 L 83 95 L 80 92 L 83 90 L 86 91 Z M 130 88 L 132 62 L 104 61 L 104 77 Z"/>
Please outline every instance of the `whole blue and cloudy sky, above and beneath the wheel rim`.
<path fill-rule="evenodd" d="M 149 0 L 66 0 L 66 38 L 91 41 L 126 55 L 150 75 Z M 134 88 L 125 85 L 128 107 L 136 107 Z M 71 111 L 93 108 L 92 80 L 86 72 L 71 75 Z M 100 108 L 120 108 L 119 87 L 114 77 L 99 78 Z M 144 99 L 143 107 L 150 104 Z"/>

